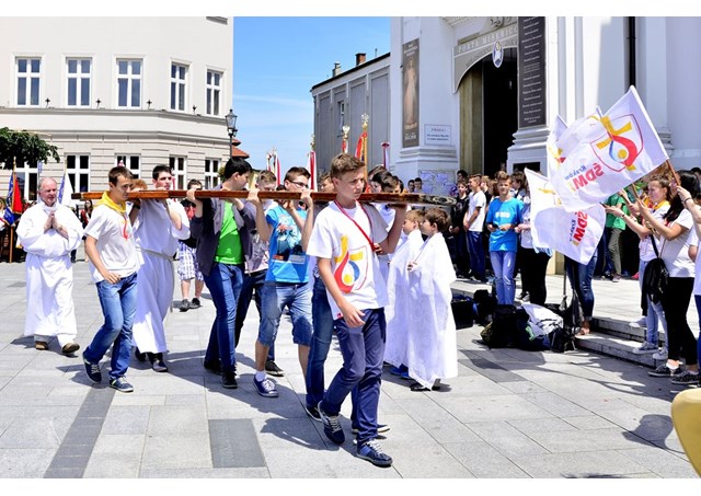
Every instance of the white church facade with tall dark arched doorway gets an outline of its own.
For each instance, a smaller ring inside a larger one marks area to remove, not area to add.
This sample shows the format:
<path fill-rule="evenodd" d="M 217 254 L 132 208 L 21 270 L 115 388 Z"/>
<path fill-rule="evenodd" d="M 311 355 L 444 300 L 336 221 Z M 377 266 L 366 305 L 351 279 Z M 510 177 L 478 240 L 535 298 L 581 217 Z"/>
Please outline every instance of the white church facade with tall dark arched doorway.
<path fill-rule="evenodd" d="M 558 115 L 606 111 L 635 85 L 675 168 L 698 166 L 699 59 L 701 18 L 393 18 L 390 162 L 435 193 L 459 169 L 545 171 Z"/>

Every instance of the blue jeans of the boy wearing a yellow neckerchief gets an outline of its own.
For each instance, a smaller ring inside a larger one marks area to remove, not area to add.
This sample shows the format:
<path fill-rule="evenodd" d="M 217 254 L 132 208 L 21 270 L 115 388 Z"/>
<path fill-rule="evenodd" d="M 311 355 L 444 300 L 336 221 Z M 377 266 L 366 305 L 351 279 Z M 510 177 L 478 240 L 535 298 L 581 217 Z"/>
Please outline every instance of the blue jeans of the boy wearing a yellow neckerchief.
<path fill-rule="evenodd" d="M 112 346 L 110 379 L 117 379 L 127 373 L 131 354 L 131 324 L 136 314 L 137 273 L 116 284 L 101 280 L 97 298 L 105 316 L 92 343 L 85 348 L 83 357 L 91 364 L 97 364 Z"/>

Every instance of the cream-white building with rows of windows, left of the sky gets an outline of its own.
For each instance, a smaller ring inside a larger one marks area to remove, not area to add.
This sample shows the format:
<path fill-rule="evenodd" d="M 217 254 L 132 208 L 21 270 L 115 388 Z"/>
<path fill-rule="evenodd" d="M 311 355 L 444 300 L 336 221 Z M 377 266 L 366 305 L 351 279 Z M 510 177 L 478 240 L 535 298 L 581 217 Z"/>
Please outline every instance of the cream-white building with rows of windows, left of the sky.
<path fill-rule="evenodd" d="M 0 127 L 37 132 L 58 148 L 42 175 L 66 166 L 73 189 L 104 191 L 119 162 L 150 184 L 170 164 L 217 182 L 229 157 L 230 18 L 0 18 Z M 34 199 L 37 164 L 16 164 Z M 9 171 L 0 171 L 0 187 Z"/>

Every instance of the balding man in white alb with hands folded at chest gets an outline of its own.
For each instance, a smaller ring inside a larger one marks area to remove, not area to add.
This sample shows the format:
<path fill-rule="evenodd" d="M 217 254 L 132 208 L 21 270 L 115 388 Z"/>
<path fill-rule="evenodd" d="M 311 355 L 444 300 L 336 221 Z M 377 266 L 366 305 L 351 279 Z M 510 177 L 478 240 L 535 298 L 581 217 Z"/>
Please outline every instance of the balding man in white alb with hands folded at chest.
<path fill-rule="evenodd" d="M 77 351 L 73 311 L 73 268 L 70 252 L 82 240 L 83 228 L 73 211 L 57 201 L 56 181 L 38 184 L 39 200 L 20 219 L 18 238 L 26 252 L 25 336 L 34 336 L 36 349 L 48 349 L 58 338 L 65 355 Z"/>

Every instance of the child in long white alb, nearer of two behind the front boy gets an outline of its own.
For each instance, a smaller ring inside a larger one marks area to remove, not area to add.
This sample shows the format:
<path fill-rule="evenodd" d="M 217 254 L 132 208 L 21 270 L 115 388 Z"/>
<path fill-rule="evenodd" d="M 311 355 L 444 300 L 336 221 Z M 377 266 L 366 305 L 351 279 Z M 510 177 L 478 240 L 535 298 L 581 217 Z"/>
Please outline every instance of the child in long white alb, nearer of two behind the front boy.
<path fill-rule="evenodd" d="M 406 366 L 416 381 L 412 391 L 440 389 L 440 380 L 458 377 L 458 344 L 452 316 L 450 284 L 456 272 L 443 232 L 450 219 L 440 208 L 424 215 L 421 232 L 427 237 L 416 257 L 407 264 L 410 307 L 421 312 L 407 320 Z"/>

